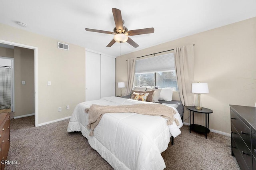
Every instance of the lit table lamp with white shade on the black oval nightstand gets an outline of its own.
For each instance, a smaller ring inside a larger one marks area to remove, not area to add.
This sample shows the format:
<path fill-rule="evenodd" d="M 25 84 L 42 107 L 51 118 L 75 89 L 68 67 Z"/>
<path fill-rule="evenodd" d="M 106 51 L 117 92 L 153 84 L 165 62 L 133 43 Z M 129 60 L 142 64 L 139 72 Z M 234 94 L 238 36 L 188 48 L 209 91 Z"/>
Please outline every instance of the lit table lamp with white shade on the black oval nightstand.
<path fill-rule="evenodd" d="M 202 93 L 209 93 L 208 83 L 201 83 L 200 81 L 198 83 L 192 83 L 192 93 L 198 94 L 198 105 L 196 106 L 196 109 L 202 110 L 202 107 L 200 106 L 200 97 Z"/>

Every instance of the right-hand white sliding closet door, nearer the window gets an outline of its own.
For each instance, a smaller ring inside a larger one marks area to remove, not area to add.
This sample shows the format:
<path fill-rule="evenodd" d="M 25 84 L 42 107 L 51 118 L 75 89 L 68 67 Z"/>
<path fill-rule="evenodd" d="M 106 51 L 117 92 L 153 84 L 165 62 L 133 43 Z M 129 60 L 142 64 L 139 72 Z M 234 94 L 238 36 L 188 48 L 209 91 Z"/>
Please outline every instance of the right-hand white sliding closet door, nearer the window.
<path fill-rule="evenodd" d="M 101 97 L 115 96 L 116 59 L 101 55 Z"/>

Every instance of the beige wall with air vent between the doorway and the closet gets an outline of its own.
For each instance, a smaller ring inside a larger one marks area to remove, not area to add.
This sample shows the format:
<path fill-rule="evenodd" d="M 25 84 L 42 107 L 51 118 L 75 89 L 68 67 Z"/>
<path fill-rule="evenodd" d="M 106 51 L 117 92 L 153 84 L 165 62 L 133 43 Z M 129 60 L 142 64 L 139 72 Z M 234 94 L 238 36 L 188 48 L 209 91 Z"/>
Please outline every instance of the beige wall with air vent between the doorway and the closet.
<path fill-rule="evenodd" d="M 71 116 L 85 101 L 85 48 L 70 44 L 69 51 L 58 49 L 58 40 L 4 24 L 0 30 L 0 40 L 38 47 L 38 124 Z"/>

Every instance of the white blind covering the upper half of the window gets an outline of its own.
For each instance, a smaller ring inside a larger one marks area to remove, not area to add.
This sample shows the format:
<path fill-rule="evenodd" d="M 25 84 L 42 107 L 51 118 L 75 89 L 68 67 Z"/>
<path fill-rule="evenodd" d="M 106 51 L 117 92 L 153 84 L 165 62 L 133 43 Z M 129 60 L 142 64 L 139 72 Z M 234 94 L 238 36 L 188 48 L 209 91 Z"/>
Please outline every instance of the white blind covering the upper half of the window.
<path fill-rule="evenodd" d="M 135 73 L 175 70 L 174 53 L 135 61 Z"/>

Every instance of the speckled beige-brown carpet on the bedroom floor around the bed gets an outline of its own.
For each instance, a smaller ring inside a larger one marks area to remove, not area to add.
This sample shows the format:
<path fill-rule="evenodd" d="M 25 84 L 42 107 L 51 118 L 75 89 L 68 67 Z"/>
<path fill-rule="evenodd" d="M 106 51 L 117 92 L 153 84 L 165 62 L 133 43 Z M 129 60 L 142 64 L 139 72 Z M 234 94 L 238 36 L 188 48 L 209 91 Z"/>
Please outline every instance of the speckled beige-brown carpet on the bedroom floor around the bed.
<path fill-rule="evenodd" d="M 5 170 L 112 170 L 80 132 L 67 132 L 68 120 L 34 127 L 34 117 L 11 119 Z M 188 126 L 162 152 L 166 170 L 239 170 L 231 156 L 230 137 L 189 133 Z"/>

